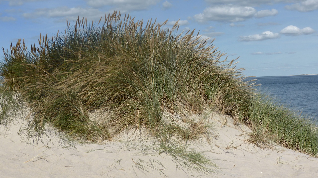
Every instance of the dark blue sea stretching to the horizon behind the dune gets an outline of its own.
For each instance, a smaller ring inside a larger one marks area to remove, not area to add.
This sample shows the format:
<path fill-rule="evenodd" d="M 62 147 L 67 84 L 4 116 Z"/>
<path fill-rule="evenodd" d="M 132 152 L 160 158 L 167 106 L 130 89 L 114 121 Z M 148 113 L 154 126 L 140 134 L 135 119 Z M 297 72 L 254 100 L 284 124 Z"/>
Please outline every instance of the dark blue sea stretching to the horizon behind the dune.
<path fill-rule="evenodd" d="M 318 74 L 271 77 L 249 77 L 257 79 L 255 89 L 271 96 L 279 104 L 308 115 L 318 125 Z"/>

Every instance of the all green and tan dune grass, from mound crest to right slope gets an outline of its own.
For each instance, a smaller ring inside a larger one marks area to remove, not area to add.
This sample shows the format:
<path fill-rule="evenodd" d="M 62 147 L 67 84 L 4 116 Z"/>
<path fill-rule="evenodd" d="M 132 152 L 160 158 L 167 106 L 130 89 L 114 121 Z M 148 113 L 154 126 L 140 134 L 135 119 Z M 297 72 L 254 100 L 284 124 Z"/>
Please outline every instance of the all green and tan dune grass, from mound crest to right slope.
<path fill-rule="evenodd" d="M 96 142 L 142 128 L 157 138 L 159 152 L 208 171 L 215 165 L 203 153 L 185 151 L 184 145 L 209 137 L 211 125 L 190 119 L 181 127 L 164 117 L 201 114 L 208 107 L 250 126 L 254 143 L 269 138 L 318 157 L 315 127 L 257 96 L 250 87 L 254 83 L 243 80 L 244 69 L 236 69 L 234 60 L 225 64 L 225 54 L 199 33 L 178 34 L 177 22 L 166 28 L 167 21 L 135 22 L 116 11 L 100 22 L 87 24 L 86 18 L 78 18 L 71 27 L 66 22 L 62 35 L 40 35 L 38 47 L 33 44 L 28 50 L 19 40 L 10 50 L 3 48 L 3 88 L 21 94 L 32 109 L 30 130 L 40 133 L 51 124 L 72 137 Z M 94 121 L 89 118 L 94 111 L 107 116 Z"/>

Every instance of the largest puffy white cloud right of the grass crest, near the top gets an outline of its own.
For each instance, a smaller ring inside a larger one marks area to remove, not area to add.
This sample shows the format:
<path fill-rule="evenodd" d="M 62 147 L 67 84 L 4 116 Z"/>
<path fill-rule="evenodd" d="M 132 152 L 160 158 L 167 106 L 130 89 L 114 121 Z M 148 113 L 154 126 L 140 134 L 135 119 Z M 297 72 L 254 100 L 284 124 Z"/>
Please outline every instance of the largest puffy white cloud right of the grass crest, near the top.
<path fill-rule="evenodd" d="M 203 13 L 194 15 L 194 19 L 198 22 L 238 22 L 252 18 L 255 13 L 256 10 L 252 7 L 221 5 L 206 8 Z"/>

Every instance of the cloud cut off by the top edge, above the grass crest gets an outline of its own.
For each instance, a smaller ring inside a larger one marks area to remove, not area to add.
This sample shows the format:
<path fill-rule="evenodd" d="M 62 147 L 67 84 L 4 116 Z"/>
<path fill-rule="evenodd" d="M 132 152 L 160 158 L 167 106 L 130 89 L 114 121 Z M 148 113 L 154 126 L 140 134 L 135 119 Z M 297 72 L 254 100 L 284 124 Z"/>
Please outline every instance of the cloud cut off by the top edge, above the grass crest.
<path fill-rule="evenodd" d="M 160 0 L 86 0 L 87 5 L 93 8 L 112 6 L 114 10 L 121 12 L 147 10 L 156 5 Z"/>

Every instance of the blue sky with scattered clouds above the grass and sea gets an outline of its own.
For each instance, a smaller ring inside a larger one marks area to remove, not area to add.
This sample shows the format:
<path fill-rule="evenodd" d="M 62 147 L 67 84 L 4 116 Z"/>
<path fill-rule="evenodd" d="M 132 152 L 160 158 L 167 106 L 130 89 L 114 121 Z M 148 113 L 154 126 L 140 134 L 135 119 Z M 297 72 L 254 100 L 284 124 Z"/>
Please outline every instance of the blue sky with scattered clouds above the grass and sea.
<path fill-rule="evenodd" d="M 239 57 L 245 76 L 318 73 L 318 0 L 0 0 L 0 48 L 38 44 L 40 33 L 64 31 L 66 19 L 96 22 L 114 10 L 200 30 L 229 61 Z"/>

